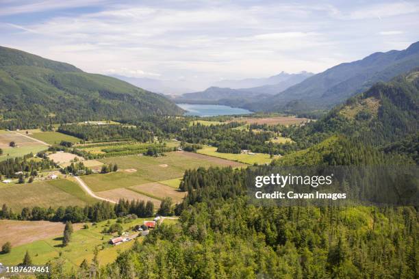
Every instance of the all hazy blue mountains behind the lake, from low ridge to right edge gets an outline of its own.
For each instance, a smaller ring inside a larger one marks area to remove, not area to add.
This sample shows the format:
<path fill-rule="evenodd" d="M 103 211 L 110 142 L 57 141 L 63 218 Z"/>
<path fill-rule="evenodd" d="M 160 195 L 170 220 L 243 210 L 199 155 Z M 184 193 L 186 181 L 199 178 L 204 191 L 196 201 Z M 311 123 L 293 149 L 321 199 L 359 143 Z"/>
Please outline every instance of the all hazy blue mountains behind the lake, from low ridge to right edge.
<path fill-rule="evenodd" d="M 211 87 L 203 92 L 183 94 L 175 98 L 175 102 L 214 103 L 251 111 L 292 114 L 331 109 L 348 97 L 364 92 L 378 81 L 389 81 L 418 66 L 419 42 L 415 42 L 403 51 L 373 53 L 364 59 L 342 63 L 316 75 L 281 72 L 267 79 L 220 81 L 217 85 L 228 85 L 231 88 Z M 244 88 L 250 85 L 258 86 Z M 237 89 L 238 86 L 242 88 Z"/>

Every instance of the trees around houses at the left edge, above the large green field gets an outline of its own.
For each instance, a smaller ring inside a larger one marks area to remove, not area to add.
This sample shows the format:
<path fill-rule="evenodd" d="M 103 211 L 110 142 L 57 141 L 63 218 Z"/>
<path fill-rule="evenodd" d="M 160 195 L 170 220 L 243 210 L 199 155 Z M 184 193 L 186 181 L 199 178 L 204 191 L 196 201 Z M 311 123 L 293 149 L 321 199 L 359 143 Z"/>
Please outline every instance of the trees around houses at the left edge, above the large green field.
<path fill-rule="evenodd" d="M 32 160 L 32 153 L 23 157 L 10 158 L 0 162 L 0 176 L 7 178 L 18 178 L 21 172 L 25 176 L 37 176 L 38 172 L 44 170 L 52 170 L 58 168 L 58 165 L 48 159 L 43 158 L 41 161 Z"/>

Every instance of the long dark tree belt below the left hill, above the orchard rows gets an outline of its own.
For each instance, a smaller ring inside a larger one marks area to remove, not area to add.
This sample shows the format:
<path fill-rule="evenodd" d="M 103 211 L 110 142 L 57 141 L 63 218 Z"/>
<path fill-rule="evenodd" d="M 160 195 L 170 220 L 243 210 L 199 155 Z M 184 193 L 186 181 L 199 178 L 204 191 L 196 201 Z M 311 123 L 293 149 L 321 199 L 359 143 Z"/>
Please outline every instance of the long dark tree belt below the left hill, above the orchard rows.
<path fill-rule="evenodd" d="M 58 131 L 85 141 L 107 142 L 118 139 L 135 139 L 138 142 L 150 142 L 154 139 L 154 135 L 150 131 L 117 124 L 64 124 L 58 128 Z"/>

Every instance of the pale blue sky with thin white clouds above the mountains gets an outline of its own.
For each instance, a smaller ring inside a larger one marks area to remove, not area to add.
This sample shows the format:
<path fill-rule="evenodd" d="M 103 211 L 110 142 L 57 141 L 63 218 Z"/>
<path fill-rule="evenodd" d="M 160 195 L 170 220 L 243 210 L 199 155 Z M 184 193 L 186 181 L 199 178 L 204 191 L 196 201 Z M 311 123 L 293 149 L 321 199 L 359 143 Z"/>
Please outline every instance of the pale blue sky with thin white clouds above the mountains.
<path fill-rule="evenodd" d="M 0 45 L 201 90 L 322 72 L 419 40 L 419 1 L 0 0 Z"/>

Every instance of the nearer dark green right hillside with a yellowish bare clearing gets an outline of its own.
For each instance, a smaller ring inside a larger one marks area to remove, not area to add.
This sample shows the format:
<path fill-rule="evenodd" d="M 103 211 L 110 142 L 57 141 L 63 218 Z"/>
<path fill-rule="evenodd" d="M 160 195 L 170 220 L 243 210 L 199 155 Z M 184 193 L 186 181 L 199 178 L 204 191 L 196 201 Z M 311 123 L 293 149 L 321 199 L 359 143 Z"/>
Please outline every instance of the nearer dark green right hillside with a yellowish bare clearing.
<path fill-rule="evenodd" d="M 332 109 L 324 118 L 301 129 L 291 127 L 284 134 L 305 146 L 340 133 L 383 147 L 417 133 L 418 102 L 419 70 L 413 70 L 388 83 L 376 83 Z"/>

